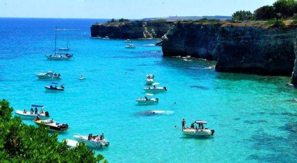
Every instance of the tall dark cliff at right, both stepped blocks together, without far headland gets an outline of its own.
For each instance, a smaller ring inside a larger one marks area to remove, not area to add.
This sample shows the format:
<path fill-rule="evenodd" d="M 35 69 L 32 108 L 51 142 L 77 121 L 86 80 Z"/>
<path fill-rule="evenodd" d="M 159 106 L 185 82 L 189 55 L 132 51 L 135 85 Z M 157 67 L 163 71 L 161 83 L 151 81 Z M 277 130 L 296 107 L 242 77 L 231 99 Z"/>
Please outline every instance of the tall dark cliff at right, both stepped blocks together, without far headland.
<path fill-rule="evenodd" d="M 162 37 L 164 56 L 217 60 L 216 70 L 263 75 L 292 73 L 297 27 L 266 22 L 176 22 Z"/>

